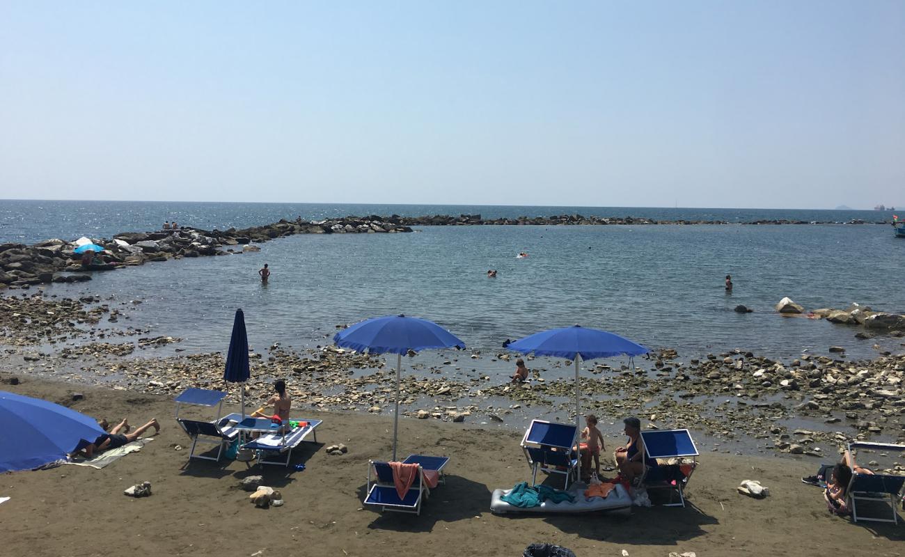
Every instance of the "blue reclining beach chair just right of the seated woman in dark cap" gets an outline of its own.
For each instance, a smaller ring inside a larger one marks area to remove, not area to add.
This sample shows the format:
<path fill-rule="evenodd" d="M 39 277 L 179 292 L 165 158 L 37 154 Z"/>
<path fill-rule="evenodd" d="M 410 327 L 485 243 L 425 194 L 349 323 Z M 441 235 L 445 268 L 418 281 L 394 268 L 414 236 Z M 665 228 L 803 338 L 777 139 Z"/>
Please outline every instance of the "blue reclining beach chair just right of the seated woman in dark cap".
<path fill-rule="evenodd" d="M 685 486 L 698 466 L 698 447 L 688 429 L 653 429 L 642 431 L 644 451 L 650 458 L 691 458 L 691 464 L 646 467 L 642 483 L 648 490 L 666 490 L 670 502 L 663 506 L 685 506 Z M 675 495 L 679 501 L 675 502 Z"/>

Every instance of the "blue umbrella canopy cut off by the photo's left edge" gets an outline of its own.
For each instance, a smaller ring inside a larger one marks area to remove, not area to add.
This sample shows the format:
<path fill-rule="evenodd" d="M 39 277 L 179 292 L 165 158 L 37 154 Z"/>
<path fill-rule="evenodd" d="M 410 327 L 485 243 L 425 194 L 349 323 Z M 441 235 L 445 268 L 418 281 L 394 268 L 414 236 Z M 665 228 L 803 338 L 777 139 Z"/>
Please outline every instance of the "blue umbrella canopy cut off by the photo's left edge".
<path fill-rule="evenodd" d="M 0 424 L 0 472 L 43 466 L 104 433 L 94 418 L 6 391 L 0 391 Z"/>

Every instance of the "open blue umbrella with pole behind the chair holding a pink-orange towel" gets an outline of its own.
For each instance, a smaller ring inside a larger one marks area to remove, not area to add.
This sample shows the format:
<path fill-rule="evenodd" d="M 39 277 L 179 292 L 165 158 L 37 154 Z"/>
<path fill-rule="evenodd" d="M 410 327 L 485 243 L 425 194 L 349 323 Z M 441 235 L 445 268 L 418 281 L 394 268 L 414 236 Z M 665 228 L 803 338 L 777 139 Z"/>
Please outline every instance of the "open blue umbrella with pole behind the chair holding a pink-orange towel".
<path fill-rule="evenodd" d="M 408 351 L 426 349 L 465 348 L 465 343 L 440 325 L 405 315 L 386 315 L 357 322 L 333 337 L 341 348 L 349 348 L 371 354 L 397 354 L 396 399 L 393 415 L 393 460 L 396 459 L 396 438 L 399 431 L 399 379 L 402 355 Z"/>

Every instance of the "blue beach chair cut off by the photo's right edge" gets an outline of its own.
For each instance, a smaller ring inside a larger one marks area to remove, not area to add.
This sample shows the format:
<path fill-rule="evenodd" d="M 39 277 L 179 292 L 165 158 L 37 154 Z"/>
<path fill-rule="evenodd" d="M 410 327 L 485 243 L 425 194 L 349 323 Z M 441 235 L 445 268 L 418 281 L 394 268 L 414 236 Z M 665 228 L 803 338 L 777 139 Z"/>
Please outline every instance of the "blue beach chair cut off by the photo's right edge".
<path fill-rule="evenodd" d="M 876 450 L 884 452 L 894 452 L 897 455 L 905 451 L 905 445 L 894 445 L 891 443 L 850 443 L 849 453 L 858 449 Z M 905 476 L 888 475 L 888 474 L 858 474 L 853 472 L 852 481 L 849 483 L 848 494 L 849 506 L 852 508 L 852 520 L 854 522 L 873 521 L 881 523 L 898 523 L 899 512 L 896 509 L 897 499 L 900 497 L 902 485 L 905 485 Z M 858 514 L 858 502 L 862 502 L 862 514 Z M 865 504 L 879 504 L 883 507 L 883 514 L 866 516 L 863 511 Z M 891 515 L 885 514 L 886 504 L 889 504 Z M 887 516 L 889 516 L 887 518 Z"/>

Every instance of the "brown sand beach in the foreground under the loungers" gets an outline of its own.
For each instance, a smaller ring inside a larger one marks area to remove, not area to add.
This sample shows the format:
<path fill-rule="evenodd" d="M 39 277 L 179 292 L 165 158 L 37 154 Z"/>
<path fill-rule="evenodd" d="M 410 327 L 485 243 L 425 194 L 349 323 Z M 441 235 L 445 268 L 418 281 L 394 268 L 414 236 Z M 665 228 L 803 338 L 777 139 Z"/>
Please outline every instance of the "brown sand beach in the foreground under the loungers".
<path fill-rule="evenodd" d="M 9 374 L 0 374 L 6 382 Z M 519 433 L 440 423 L 400 421 L 400 451 L 451 456 L 447 485 L 420 516 L 362 509 L 367 461 L 387 458 L 392 419 L 361 413 L 311 412 L 324 419 L 319 444 L 303 444 L 293 458 L 304 471 L 240 462 L 193 461 L 173 418 L 171 397 L 71 386 L 20 377 L 3 389 L 57 401 L 96 418 L 159 418 L 163 430 L 140 452 L 104 469 L 59 466 L 0 476 L 0 539 L 5 555 L 520 555 L 529 543 L 558 543 L 586 555 L 670 552 L 697 555 L 900 555 L 902 526 L 851 523 L 826 512 L 820 489 L 799 478 L 814 459 L 704 454 L 692 476 L 686 508 L 634 507 L 630 515 L 494 515 L 493 489 L 529 479 Z M 617 417 L 614 417 L 617 418 Z M 612 420 L 611 420 L 612 421 Z M 604 429 L 607 453 L 623 442 Z M 324 447 L 345 443 L 348 453 Z M 238 483 L 264 475 L 285 505 L 255 508 Z M 765 499 L 739 495 L 743 479 L 770 488 Z M 150 481 L 153 495 L 122 491 Z M 550 480 L 553 482 L 553 480 Z M 552 485 L 558 485 L 553 483 Z M 656 500 L 655 500 L 656 501 Z"/>

